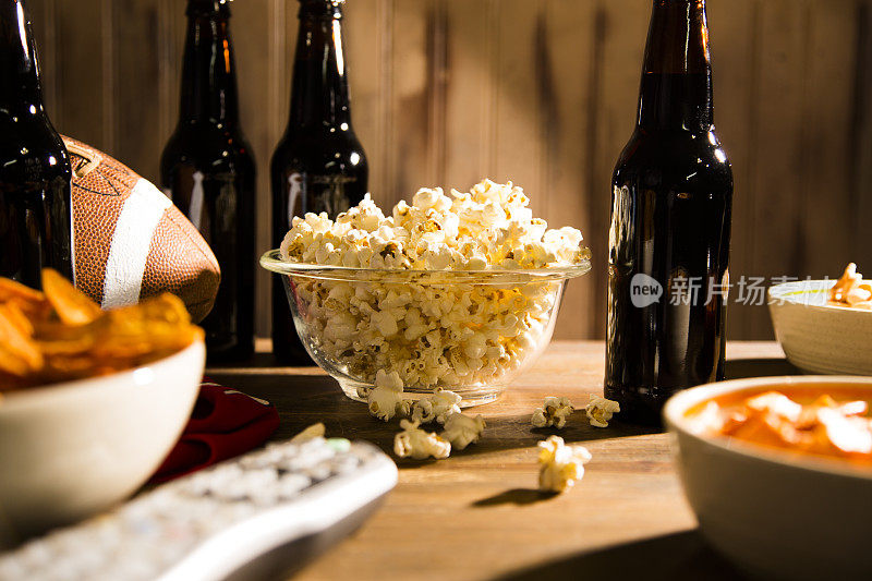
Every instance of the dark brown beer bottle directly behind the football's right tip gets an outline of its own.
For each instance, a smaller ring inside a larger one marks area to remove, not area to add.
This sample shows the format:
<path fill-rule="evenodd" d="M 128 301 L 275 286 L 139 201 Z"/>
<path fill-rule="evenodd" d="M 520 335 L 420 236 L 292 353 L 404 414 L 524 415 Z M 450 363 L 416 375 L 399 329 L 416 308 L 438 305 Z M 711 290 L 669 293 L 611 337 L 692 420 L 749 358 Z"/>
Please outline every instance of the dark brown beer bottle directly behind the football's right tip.
<path fill-rule="evenodd" d="M 168 195 L 211 246 L 221 286 L 203 320 L 210 360 L 254 350 L 255 165 L 239 121 L 229 0 L 189 0 L 179 125 L 160 162 Z"/>

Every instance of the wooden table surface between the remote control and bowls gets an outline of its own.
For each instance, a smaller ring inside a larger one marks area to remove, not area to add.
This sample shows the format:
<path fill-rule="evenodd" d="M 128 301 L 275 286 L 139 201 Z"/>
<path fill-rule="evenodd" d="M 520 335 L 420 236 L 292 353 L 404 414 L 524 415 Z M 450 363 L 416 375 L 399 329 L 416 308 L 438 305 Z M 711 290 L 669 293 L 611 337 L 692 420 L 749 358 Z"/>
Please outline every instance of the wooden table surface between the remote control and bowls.
<path fill-rule="evenodd" d="M 265 346 L 258 346 L 263 349 Z M 315 422 L 328 436 L 365 439 L 392 456 L 398 422 L 371 417 L 318 368 L 211 368 L 210 377 L 272 401 L 283 439 Z M 622 425 L 592 427 L 576 412 L 559 434 L 593 455 L 584 479 L 559 496 L 536 492 L 530 425 L 546 396 L 583 406 L 602 394 L 604 343 L 554 342 L 496 402 L 474 408 L 483 439 L 439 461 L 398 460 L 399 484 L 363 528 L 295 579 L 734 579 L 712 552 L 681 492 L 666 434 Z M 730 343 L 728 377 L 796 373 L 774 342 Z"/>

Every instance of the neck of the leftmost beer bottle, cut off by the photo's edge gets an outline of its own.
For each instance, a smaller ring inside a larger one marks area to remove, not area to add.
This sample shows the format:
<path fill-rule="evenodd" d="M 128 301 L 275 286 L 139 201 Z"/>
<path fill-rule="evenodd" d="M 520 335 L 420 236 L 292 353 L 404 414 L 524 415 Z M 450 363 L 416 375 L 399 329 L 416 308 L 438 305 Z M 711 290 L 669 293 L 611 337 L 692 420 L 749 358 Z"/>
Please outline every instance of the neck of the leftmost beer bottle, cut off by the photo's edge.
<path fill-rule="evenodd" d="M 39 64 L 24 0 L 0 0 L 0 107 L 43 110 Z"/>

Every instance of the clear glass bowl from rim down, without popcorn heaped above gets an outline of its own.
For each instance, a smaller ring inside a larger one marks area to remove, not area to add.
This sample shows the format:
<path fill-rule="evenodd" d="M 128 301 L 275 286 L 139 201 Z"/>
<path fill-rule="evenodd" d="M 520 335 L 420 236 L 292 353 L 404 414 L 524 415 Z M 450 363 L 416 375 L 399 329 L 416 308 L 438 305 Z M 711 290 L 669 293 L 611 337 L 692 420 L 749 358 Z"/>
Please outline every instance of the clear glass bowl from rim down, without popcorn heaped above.
<path fill-rule="evenodd" d="M 545 350 L 566 282 L 591 269 L 408 270 L 284 262 L 281 276 L 293 324 L 308 354 L 355 400 L 376 373 L 397 372 L 404 397 L 437 387 L 462 407 L 495 400 Z M 288 322 L 290 325 L 291 322 Z"/>

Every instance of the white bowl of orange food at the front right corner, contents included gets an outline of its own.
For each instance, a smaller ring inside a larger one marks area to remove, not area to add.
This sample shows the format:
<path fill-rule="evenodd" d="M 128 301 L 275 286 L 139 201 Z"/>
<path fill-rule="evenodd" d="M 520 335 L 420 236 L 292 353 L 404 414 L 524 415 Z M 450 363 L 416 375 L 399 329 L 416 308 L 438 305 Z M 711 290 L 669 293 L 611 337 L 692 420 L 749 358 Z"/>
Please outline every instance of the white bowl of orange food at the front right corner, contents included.
<path fill-rule="evenodd" d="M 872 378 L 847 376 L 736 379 L 669 399 L 664 421 L 703 535 L 763 578 L 868 579 L 870 402 Z"/>

